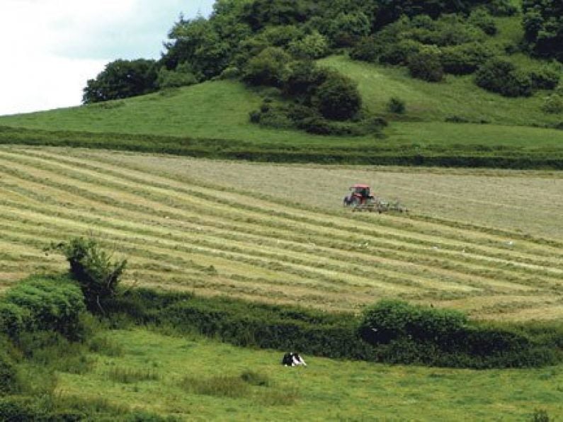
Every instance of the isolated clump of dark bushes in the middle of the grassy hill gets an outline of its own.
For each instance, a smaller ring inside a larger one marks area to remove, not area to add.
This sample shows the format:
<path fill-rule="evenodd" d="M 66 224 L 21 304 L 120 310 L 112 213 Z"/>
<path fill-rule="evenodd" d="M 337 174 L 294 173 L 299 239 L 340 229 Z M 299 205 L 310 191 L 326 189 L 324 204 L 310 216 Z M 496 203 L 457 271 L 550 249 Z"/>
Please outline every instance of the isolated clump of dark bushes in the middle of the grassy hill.
<path fill-rule="evenodd" d="M 320 68 L 312 60 L 292 61 L 280 47 L 268 47 L 249 60 L 242 80 L 276 89 L 251 121 L 268 127 L 297 127 L 318 135 L 361 135 L 369 132 L 360 113 L 362 98 L 351 79 Z M 273 98 L 285 98 L 277 102 Z M 343 124 L 345 120 L 352 120 Z M 358 125 L 360 123 L 360 125 Z M 360 127 L 361 126 L 361 127 Z"/>

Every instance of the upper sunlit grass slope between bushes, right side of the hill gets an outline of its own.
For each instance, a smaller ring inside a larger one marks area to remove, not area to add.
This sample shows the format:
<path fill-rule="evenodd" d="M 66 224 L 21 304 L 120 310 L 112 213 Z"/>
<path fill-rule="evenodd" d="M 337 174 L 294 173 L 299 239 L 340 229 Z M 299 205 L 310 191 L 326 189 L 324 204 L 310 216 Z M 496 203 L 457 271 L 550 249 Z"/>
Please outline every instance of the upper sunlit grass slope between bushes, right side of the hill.
<path fill-rule="evenodd" d="M 562 115 L 542 112 L 540 107 L 548 91 L 538 91 L 531 98 L 507 98 L 477 88 L 473 75 L 448 75 L 443 82 L 428 83 L 411 78 L 404 67 L 357 62 L 344 56 L 332 56 L 320 64 L 338 69 L 356 81 L 365 105 L 379 114 L 387 113 L 389 100 L 398 97 L 406 103 L 406 118 L 423 122 L 444 122 L 458 116 L 492 125 L 541 126 L 563 120 Z M 491 138 L 482 142 L 498 142 L 496 137 Z"/>

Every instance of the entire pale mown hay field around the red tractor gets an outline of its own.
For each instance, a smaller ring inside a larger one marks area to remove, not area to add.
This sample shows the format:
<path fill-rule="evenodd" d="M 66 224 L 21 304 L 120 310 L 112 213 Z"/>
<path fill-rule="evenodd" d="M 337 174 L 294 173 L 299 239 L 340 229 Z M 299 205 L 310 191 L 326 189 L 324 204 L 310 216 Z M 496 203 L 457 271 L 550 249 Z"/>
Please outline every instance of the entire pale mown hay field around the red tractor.
<path fill-rule="evenodd" d="M 353 181 L 399 196 L 411 212 L 343 210 Z M 43 248 L 91 232 L 128 258 L 125 281 L 137 285 L 358 311 L 400 297 L 477 318 L 555 319 L 562 192 L 557 173 L 236 166 L 3 147 L 0 283 L 64 270 Z"/>

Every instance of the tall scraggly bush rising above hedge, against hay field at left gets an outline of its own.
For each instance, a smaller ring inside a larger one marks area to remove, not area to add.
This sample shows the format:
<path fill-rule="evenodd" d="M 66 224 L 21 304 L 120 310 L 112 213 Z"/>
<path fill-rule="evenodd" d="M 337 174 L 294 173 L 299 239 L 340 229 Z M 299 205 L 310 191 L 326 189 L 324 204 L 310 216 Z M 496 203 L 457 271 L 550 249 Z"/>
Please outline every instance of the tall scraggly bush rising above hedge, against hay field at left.
<path fill-rule="evenodd" d="M 91 312 L 103 312 L 103 304 L 118 291 L 127 260 L 113 261 L 112 255 L 95 239 L 76 237 L 68 242 L 52 244 L 70 264 L 70 274 L 78 281 L 86 307 Z"/>

